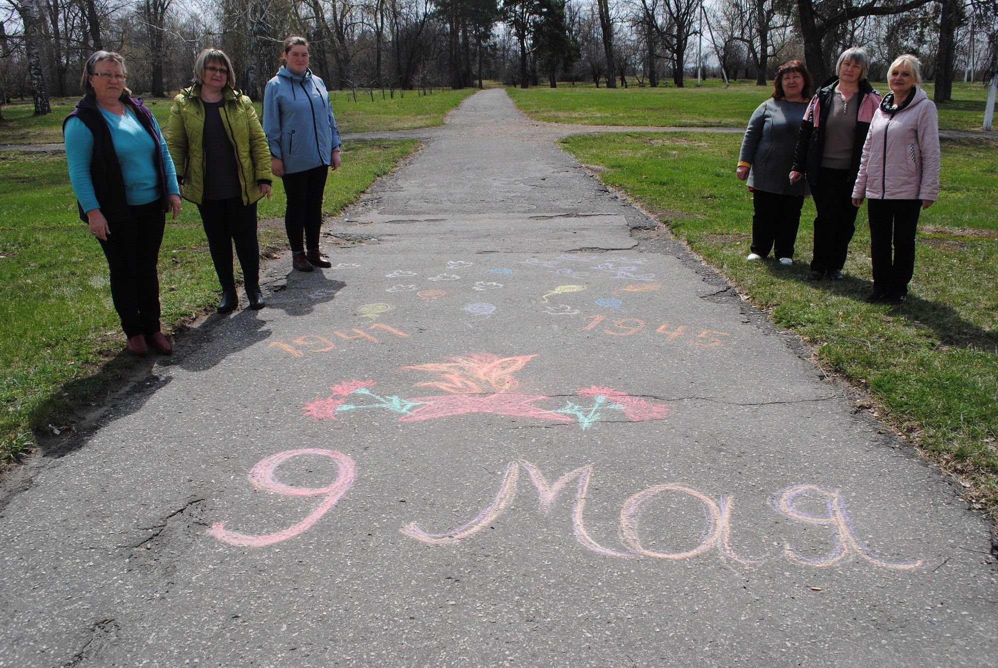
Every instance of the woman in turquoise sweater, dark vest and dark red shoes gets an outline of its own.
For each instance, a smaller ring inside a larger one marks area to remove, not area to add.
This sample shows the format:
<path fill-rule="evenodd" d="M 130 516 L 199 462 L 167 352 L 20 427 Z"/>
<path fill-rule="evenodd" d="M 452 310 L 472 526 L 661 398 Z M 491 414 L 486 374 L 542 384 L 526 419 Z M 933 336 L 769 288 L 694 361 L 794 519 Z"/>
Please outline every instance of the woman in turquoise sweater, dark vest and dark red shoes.
<path fill-rule="evenodd" d="M 153 114 L 125 87 L 125 60 L 98 51 L 81 80 L 84 98 L 63 123 L 66 160 L 80 218 L 108 259 L 111 298 L 128 349 L 163 354 L 157 263 L 167 211 L 181 210 L 167 143 Z"/>

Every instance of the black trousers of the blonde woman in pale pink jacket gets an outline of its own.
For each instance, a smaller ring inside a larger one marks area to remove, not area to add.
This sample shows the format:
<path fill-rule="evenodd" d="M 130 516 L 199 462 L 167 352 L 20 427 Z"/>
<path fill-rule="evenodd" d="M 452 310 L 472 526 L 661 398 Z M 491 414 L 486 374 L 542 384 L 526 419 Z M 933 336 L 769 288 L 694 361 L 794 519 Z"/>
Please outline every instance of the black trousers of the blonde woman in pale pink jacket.
<path fill-rule="evenodd" d="M 915 228 L 922 213 L 922 201 L 866 200 L 866 207 L 870 219 L 873 292 L 889 297 L 907 295 L 915 273 Z"/>

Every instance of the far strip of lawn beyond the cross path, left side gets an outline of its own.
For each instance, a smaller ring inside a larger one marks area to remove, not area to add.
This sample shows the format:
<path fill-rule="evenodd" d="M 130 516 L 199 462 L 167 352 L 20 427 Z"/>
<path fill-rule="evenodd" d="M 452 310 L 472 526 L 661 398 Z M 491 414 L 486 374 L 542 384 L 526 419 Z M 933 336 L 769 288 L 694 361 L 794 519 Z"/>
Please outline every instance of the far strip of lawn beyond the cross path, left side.
<path fill-rule="evenodd" d="M 374 99 L 367 91 L 357 91 L 357 101 L 353 101 L 350 91 L 333 91 L 329 94 L 332 111 L 336 116 L 336 126 L 342 133 L 385 132 L 389 130 L 413 130 L 443 125 L 443 119 L 451 109 L 461 104 L 474 89 L 460 91 L 434 90 L 432 95 L 422 95 L 419 91 L 395 91 L 394 99 L 381 99 L 381 91 L 374 91 Z M 76 106 L 80 98 L 53 99 L 52 113 L 47 116 L 34 116 L 30 100 L 4 106 L 0 111 L 0 144 L 58 144 L 62 142 L 62 123 Z M 146 98 L 146 106 L 160 125 L 166 128 L 167 117 L 173 98 Z M 259 114 L 262 105 L 255 103 Z"/>

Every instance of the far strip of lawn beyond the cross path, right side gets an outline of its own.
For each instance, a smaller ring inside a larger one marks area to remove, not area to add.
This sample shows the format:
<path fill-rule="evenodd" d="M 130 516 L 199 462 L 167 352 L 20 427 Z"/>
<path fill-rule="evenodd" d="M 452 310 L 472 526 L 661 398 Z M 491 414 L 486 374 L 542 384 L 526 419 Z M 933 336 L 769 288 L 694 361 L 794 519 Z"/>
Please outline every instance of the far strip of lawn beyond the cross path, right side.
<path fill-rule="evenodd" d="M 658 127 L 744 128 L 749 116 L 771 92 L 754 82 L 708 80 L 700 88 L 696 79 L 686 88 L 672 84 L 658 88 L 595 88 L 560 84 L 558 88 L 507 88 L 517 107 L 535 121 L 579 125 L 630 125 Z M 887 92 L 884 82 L 873 84 Z M 932 97 L 932 84 L 925 90 Z M 953 101 L 939 105 L 939 127 L 947 130 L 980 130 L 984 122 L 987 88 L 982 84 L 953 84 Z"/>

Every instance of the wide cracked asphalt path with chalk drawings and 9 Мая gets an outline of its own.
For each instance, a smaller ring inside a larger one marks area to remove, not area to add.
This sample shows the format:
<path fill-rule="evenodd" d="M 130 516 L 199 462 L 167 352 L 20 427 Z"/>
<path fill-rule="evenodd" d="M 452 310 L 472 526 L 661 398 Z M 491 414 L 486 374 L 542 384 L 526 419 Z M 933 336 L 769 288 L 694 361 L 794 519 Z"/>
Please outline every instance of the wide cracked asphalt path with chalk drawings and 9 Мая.
<path fill-rule="evenodd" d="M 983 666 L 990 526 L 478 93 L 0 516 L 0 666 Z"/>

